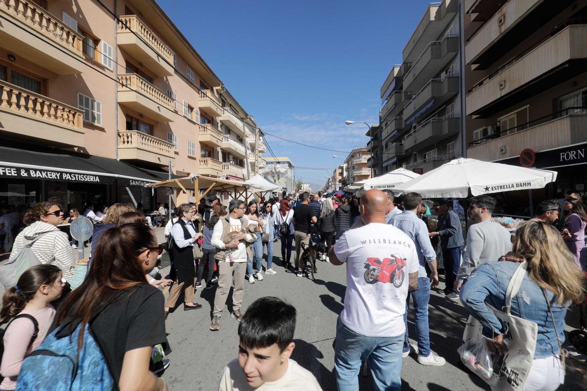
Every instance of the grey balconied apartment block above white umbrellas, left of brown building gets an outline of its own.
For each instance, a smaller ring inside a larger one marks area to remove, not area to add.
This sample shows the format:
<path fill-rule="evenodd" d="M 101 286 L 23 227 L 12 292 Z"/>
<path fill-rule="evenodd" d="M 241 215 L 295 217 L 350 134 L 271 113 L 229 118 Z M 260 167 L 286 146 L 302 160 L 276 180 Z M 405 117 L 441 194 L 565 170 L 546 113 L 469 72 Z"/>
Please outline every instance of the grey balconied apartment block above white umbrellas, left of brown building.
<path fill-rule="evenodd" d="M 431 3 L 380 89 L 382 173 L 462 156 L 458 0 Z"/>

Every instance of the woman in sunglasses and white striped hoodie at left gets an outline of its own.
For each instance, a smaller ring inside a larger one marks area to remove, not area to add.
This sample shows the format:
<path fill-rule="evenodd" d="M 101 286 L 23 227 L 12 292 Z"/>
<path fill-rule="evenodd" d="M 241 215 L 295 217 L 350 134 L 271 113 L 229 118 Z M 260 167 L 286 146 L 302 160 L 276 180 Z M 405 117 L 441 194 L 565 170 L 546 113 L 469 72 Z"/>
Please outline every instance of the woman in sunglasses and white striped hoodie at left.
<path fill-rule="evenodd" d="M 63 278 L 68 282 L 63 287 L 63 298 L 71 290 L 69 282 L 72 281 L 71 271 L 75 263 L 68 234 L 57 228 L 59 224 L 63 224 L 63 210 L 58 204 L 38 203 L 25 213 L 22 221 L 28 227 L 16 236 L 9 259 L 15 259 L 25 244 L 35 240 L 31 246 L 35 257 L 41 264 L 52 264 L 61 269 Z"/>

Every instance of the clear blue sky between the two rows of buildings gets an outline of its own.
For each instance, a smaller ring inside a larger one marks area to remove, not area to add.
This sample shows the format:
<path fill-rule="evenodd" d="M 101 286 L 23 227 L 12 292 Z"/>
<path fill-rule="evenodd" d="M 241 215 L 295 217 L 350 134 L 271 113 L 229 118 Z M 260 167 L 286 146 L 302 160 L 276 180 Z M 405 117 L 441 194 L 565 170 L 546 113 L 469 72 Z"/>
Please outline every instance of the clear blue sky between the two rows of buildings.
<path fill-rule="evenodd" d="M 379 89 L 429 1 L 159 1 L 276 156 L 333 168 L 379 121 Z M 186 12 L 186 10 L 190 10 Z M 270 156 L 267 151 L 264 156 Z M 318 189 L 327 171 L 295 169 Z"/>

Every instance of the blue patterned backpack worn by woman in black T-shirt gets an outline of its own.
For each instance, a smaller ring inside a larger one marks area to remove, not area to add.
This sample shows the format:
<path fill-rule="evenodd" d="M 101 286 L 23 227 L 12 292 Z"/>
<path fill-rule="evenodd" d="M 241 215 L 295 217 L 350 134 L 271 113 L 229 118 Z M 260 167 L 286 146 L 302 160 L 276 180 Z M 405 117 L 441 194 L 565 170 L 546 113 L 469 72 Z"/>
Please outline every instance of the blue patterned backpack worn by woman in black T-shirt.
<path fill-rule="evenodd" d="M 92 320 L 93 318 L 90 322 Z M 69 322 L 62 323 L 59 328 L 46 336 L 41 346 L 26 356 L 18 374 L 15 391 L 117 389 L 102 350 L 89 331 L 89 324 L 83 331 L 79 359 L 77 359 L 77 338 L 82 325 L 81 323 L 77 325 L 70 335 L 65 330 L 68 326 Z"/>

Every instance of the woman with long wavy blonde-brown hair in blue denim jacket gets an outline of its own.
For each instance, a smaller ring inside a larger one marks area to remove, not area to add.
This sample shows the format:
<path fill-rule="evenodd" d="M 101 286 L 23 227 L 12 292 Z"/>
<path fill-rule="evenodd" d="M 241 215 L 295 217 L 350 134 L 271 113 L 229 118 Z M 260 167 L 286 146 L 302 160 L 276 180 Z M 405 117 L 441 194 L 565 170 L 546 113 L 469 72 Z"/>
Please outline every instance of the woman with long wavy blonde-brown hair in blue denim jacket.
<path fill-rule="evenodd" d="M 534 361 L 524 390 L 556 390 L 564 379 L 559 345 L 565 341 L 565 315 L 572 301 L 583 298 L 582 273 L 559 232 L 542 221 L 527 221 L 516 230 L 513 252 L 528 262 L 528 270 L 512 298 L 511 314 L 538 325 Z M 483 325 L 490 351 L 500 355 L 508 350 L 504 341 L 508 326 L 485 304 L 504 307 L 505 288 L 518 265 L 507 261 L 482 264 L 461 288 L 465 309 Z"/>

